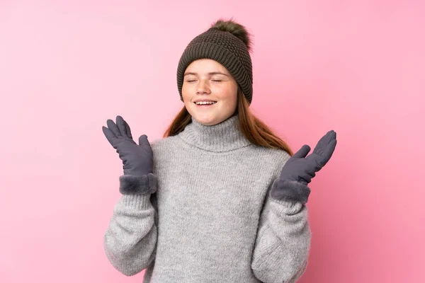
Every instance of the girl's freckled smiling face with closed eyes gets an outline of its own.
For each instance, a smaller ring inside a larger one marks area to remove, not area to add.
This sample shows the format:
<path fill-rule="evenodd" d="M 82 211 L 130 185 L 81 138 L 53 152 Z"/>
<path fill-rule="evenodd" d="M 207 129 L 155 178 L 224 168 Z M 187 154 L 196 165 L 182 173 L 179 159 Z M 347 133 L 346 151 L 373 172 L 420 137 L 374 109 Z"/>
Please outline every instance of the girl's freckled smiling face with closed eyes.
<path fill-rule="evenodd" d="M 236 111 L 237 82 L 212 59 L 198 59 L 186 68 L 181 93 L 189 114 L 203 125 L 216 125 Z"/>

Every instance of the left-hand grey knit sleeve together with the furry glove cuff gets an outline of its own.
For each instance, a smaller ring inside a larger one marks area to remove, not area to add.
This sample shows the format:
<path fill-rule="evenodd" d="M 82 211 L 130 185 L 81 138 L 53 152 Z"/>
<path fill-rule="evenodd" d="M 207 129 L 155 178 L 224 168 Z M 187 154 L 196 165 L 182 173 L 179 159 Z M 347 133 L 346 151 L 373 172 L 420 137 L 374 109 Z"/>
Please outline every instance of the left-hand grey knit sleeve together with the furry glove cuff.
<path fill-rule="evenodd" d="M 123 195 L 115 204 L 103 237 L 109 262 L 128 276 L 149 267 L 155 258 L 158 220 L 153 200 L 157 182 L 153 174 L 149 174 L 149 180 L 137 183 L 133 176 L 120 176 Z"/>

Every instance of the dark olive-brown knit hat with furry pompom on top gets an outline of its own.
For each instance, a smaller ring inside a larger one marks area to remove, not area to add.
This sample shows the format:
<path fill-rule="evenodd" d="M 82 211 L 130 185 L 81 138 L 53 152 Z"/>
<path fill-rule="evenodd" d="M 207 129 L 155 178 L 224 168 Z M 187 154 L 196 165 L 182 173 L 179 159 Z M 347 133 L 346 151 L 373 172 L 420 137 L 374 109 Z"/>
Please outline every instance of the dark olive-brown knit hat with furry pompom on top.
<path fill-rule="evenodd" d="M 177 68 L 177 86 L 183 101 L 181 88 L 186 68 L 197 59 L 208 58 L 222 64 L 237 81 L 246 100 L 252 101 L 252 62 L 249 51 L 251 40 L 243 25 L 232 20 L 218 20 L 211 27 L 193 38 L 181 55 Z"/>

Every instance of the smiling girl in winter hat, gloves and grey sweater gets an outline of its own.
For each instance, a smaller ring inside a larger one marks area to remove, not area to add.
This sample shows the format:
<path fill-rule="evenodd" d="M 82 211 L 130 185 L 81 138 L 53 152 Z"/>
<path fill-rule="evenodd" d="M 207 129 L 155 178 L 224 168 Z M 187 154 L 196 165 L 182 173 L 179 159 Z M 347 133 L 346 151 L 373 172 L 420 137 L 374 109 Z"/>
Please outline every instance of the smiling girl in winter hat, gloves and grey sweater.
<path fill-rule="evenodd" d="M 250 35 L 219 20 L 184 50 L 183 108 L 164 139 L 133 141 L 123 117 L 103 133 L 123 161 L 108 260 L 144 282 L 295 282 L 310 250 L 307 186 L 336 132 L 295 154 L 251 114 Z"/>

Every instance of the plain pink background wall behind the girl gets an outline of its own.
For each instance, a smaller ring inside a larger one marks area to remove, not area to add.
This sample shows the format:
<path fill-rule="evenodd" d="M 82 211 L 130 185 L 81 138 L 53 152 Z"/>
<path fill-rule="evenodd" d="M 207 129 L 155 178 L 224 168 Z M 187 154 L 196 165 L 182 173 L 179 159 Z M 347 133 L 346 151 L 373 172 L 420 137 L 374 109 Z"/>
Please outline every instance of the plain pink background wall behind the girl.
<path fill-rule="evenodd" d="M 295 151 L 337 132 L 300 282 L 425 282 L 423 1 L 75 2 L 0 2 L 0 282 L 142 282 L 103 252 L 122 163 L 101 127 L 162 137 L 181 52 L 231 16 L 254 113 Z"/>

